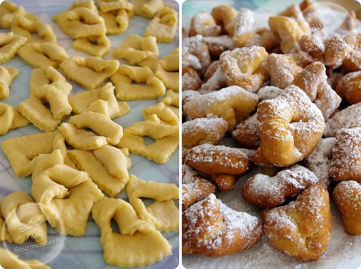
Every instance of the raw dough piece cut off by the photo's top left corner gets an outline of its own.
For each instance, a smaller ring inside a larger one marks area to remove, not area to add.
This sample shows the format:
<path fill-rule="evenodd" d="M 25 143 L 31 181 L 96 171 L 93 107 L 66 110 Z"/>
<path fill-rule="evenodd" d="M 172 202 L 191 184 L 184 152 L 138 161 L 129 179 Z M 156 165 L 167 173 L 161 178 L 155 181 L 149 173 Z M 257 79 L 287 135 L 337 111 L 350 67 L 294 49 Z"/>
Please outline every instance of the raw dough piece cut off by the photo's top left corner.
<path fill-rule="evenodd" d="M 0 27 L 10 28 L 10 24 L 14 17 L 21 16 L 30 20 L 39 20 L 38 16 L 27 12 L 22 6 L 17 7 L 10 1 L 3 1 L 0 4 Z"/>

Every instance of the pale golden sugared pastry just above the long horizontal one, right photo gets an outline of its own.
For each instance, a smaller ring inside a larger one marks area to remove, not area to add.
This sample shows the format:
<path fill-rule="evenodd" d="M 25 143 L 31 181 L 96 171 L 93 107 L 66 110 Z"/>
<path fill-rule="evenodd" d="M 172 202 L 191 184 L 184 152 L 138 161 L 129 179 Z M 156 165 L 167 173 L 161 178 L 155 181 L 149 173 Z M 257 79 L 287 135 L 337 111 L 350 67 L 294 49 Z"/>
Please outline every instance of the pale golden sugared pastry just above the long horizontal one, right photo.
<path fill-rule="evenodd" d="M 268 53 L 264 47 L 252 46 L 235 48 L 221 54 L 221 70 L 227 85 L 237 85 L 255 92 L 263 82 L 269 80 L 269 74 L 262 65 Z"/>

